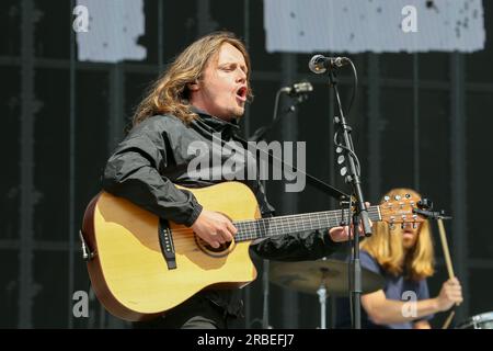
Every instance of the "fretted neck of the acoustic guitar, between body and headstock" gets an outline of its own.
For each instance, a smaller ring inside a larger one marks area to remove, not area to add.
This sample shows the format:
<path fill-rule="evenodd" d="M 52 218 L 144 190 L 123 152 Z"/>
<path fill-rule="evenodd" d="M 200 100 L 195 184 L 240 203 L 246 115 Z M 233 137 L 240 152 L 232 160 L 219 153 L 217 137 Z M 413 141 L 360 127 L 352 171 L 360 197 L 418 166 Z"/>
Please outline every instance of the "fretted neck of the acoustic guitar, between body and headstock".
<path fill-rule="evenodd" d="M 334 210 L 300 215 L 238 220 L 233 222 L 238 228 L 234 239 L 237 241 L 246 241 L 289 233 L 332 228 L 340 226 L 343 219 L 347 223 L 347 215 L 348 210 Z M 374 222 L 381 220 L 379 206 L 368 207 L 368 216 Z"/>

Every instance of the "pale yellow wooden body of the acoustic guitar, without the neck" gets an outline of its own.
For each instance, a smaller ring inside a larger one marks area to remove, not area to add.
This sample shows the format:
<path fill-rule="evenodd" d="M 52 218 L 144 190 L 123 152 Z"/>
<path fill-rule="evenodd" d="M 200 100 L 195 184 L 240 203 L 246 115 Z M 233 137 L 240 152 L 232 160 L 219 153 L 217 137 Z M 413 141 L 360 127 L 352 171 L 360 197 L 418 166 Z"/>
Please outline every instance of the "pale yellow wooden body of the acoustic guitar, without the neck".
<path fill-rule="evenodd" d="M 193 192 L 205 210 L 231 220 L 260 218 L 256 199 L 239 182 L 223 182 Z M 83 237 L 93 258 L 88 270 L 105 308 L 126 320 L 145 320 L 180 305 L 204 288 L 241 287 L 256 278 L 250 241 L 219 251 L 200 244 L 192 229 L 169 223 L 174 269 L 159 241 L 158 216 L 122 197 L 100 193 L 89 204 Z"/>

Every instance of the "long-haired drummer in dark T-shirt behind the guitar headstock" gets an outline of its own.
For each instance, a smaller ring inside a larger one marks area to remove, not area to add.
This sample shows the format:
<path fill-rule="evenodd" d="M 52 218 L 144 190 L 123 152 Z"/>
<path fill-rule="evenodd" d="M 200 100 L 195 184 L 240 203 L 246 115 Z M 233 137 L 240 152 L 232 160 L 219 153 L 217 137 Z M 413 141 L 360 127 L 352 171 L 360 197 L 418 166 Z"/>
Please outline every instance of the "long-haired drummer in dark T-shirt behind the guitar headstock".
<path fill-rule="evenodd" d="M 386 195 L 421 195 L 411 189 L 393 189 Z M 434 252 L 427 220 L 397 225 L 374 224 L 372 236 L 360 244 L 362 268 L 385 278 L 383 290 L 362 295 L 362 328 L 429 329 L 429 319 L 439 312 L 462 302 L 456 278 L 449 279 L 434 298 L 429 297 L 426 279 L 434 274 Z M 339 298 L 336 327 L 351 327 L 348 298 Z"/>

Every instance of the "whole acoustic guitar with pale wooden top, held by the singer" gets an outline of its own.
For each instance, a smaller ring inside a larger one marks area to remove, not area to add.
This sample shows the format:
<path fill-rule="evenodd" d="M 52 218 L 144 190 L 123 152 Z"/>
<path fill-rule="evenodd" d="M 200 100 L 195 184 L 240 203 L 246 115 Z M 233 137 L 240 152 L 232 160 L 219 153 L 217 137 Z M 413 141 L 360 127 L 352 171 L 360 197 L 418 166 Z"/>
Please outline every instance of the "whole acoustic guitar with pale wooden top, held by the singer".
<path fill-rule="evenodd" d="M 256 199 L 243 183 L 187 190 L 204 208 L 233 222 L 238 233 L 232 242 L 214 249 L 191 228 L 106 192 L 88 205 L 81 233 L 88 270 L 98 298 L 114 316 L 146 320 L 204 288 L 242 287 L 256 278 L 249 254 L 252 240 L 335 227 L 347 216 L 347 210 L 336 210 L 261 218 Z M 392 225 L 420 223 L 424 218 L 413 212 L 417 200 L 392 199 L 370 206 L 368 214 Z"/>

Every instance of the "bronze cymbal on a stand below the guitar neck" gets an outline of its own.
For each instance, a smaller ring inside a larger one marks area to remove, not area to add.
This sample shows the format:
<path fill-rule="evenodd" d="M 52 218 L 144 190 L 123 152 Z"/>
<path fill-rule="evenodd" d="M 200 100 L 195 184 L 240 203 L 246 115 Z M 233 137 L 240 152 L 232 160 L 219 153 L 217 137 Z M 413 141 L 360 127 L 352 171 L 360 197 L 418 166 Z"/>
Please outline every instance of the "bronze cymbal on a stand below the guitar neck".
<path fill-rule="evenodd" d="M 330 295 L 345 295 L 349 291 L 348 263 L 339 260 L 301 262 L 270 262 L 270 279 L 283 287 L 317 294 L 321 285 Z M 383 288 L 383 278 L 362 268 L 362 291 L 368 294 Z"/>

